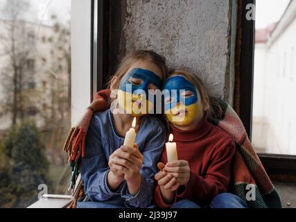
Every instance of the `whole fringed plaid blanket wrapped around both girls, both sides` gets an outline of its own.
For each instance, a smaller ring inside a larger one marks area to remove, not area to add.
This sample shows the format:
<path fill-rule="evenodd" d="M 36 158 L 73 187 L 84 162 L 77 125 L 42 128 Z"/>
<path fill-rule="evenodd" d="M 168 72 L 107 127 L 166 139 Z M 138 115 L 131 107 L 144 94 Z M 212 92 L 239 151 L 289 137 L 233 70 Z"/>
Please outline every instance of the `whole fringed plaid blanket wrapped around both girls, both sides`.
<path fill-rule="evenodd" d="M 104 89 L 94 96 L 94 101 L 87 108 L 80 123 L 73 127 L 64 144 L 64 151 L 69 155 L 72 178 L 69 190 L 73 201 L 69 207 L 76 207 L 77 201 L 85 196 L 80 179 L 81 157 L 85 154 L 85 135 L 94 112 L 109 108 L 110 90 Z M 214 125 L 222 128 L 234 137 L 236 153 L 233 159 L 232 182 L 229 185 L 232 193 L 240 196 L 250 208 L 281 207 L 281 200 L 272 185 L 259 157 L 256 155 L 250 139 L 247 137 L 241 119 L 232 107 L 219 100 L 223 113 L 220 117 L 209 118 Z"/>

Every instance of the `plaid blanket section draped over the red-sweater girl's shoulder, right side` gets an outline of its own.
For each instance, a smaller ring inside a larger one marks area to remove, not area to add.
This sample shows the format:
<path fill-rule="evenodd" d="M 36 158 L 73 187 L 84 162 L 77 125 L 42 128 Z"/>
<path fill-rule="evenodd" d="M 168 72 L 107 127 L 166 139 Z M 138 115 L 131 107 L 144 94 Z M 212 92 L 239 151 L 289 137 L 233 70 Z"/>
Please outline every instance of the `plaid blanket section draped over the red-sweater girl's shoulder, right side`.
<path fill-rule="evenodd" d="M 233 108 L 219 100 L 223 114 L 209 121 L 231 135 L 236 142 L 236 153 L 232 167 L 232 192 L 245 200 L 250 208 L 279 208 L 281 200 L 272 185 L 250 139 Z M 254 191 L 252 196 L 252 191 Z"/>

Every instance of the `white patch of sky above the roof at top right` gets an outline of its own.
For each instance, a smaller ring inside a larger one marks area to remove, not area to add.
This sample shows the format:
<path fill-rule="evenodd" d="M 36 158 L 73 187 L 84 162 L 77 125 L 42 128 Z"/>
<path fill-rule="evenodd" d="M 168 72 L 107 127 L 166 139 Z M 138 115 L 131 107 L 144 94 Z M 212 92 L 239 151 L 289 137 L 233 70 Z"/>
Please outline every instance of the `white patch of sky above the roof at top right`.
<path fill-rule="evenodd" d="M 256 0 L 256 28 L 266 28 L 278 22 L 289 2 L 290 0 Z"/>

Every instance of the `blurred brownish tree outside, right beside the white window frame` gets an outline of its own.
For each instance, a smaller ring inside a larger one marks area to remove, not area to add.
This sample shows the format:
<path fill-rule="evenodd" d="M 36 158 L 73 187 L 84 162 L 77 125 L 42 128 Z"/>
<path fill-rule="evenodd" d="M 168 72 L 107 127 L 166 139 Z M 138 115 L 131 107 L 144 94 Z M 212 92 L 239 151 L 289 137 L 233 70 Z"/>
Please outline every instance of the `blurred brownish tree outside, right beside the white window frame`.
<path fill-rule="evenodd" d="M 46 84 L 43 94 L 44 110 L 40 113 L 46 123 L 46 149 L 51 162 L 63 165 L 60 147 L 71 127 L 71 33 L 70 22 L 64 24 L 55 15 L 51 16 L 53 27 L 46 42 L 50 44 L 49 62 L 42 62 Z M 58 154 L 58 155 L 57 155 Z"/>

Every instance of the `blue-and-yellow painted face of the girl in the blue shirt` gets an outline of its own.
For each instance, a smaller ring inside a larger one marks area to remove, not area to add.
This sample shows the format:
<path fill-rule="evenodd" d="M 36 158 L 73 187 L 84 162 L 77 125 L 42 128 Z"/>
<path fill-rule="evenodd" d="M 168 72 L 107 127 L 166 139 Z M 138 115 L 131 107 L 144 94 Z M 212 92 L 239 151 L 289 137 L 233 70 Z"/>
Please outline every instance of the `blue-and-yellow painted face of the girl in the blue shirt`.
<path fill-rule="evenodd" d="M 119 85 L 118 101 L 126 113 L 134 117 L 147 114 L 153 108 L 154 96 L 149 89 L 159 89 L 162 79 L 147 69 L 132 69 L 124 76 Z"/>

